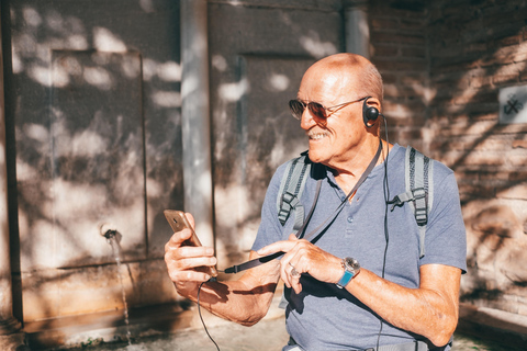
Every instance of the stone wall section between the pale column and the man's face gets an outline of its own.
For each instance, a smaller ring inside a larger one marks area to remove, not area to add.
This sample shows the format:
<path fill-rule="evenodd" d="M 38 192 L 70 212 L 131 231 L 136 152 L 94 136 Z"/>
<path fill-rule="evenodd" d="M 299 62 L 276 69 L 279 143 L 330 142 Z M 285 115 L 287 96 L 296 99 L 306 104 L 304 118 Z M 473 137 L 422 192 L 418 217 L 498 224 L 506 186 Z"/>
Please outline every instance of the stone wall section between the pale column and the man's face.
<path fill-rule="evenodd" d="M 288 102 L 317 58 L 343 50 L 340 1 L 209 1 L 220 268 L 248 258 L 274 169 L 307 149 Z"/>

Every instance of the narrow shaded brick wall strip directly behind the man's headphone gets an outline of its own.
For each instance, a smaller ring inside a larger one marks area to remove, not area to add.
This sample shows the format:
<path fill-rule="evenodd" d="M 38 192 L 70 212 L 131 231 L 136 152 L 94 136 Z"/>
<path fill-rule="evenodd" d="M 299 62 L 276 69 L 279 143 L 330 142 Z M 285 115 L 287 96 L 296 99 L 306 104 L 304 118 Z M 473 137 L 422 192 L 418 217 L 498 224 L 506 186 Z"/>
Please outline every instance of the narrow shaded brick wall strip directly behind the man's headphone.
<path fill-rule="evenodd" d="M 370 1 L 371 60 L 384 80 L 389 138 L 418 149 L 426 122 L 428 57 L 422 1 Z"/>

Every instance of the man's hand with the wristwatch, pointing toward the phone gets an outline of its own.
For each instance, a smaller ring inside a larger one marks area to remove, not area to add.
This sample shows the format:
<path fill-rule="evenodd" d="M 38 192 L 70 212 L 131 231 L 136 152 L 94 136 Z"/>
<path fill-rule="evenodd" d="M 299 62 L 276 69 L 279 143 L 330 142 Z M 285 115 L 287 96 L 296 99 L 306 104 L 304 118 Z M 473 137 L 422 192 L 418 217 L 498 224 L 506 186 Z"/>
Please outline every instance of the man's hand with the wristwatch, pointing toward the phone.
<path fill-rule="evenodd" d="M 337 283 L 343 276 L 341 259 L 307 240 L 298 239 L 294 234 L 289 236 L 289 240 L 277 241 L 261 248 L 258 254 L 267 256 L 279 251 L 285 252 L 280 260 L 280 276 L 285 286 L 292 287 L 296 294 L 302 291 L 300 284 L 302 273 L 326 283 Z"/>

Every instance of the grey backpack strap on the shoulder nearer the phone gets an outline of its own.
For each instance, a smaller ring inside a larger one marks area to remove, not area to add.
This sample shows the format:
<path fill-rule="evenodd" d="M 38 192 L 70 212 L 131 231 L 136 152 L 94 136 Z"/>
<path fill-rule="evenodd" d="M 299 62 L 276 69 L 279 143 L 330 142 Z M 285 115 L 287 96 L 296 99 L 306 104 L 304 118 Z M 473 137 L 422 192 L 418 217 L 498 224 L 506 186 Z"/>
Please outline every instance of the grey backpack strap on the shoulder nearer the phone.
<path fill-rule="evenodd" d="M 304 222 L 304 206 L 300 203 L 300 196 L 305 188 L 306 174 L 311 171 L 311 161 L 307 152 L 288 162 L 280 190 L 277 196 L 278 219 L 283 226 L 291 212 L 294 211 L 294 230 L 299 230 Z"/>

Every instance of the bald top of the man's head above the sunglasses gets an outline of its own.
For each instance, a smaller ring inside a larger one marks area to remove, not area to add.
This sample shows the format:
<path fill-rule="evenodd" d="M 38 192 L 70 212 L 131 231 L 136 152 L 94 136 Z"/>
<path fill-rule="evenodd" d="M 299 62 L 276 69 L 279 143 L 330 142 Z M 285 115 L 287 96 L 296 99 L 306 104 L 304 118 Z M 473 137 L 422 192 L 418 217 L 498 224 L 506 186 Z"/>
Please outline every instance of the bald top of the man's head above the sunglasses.
<path fill-rule="evenodd" d="M 382 103 L 381 75 L 373 64 L 360 55 L 343 53 L 325 57 L 307 69 L 304 79 L 333 83 L 339 91 L 348 91 L 357 98 L 377 98 Z"/>

